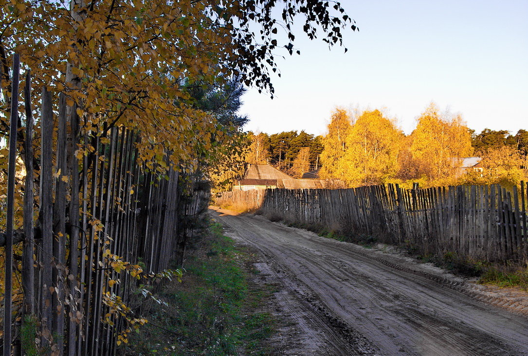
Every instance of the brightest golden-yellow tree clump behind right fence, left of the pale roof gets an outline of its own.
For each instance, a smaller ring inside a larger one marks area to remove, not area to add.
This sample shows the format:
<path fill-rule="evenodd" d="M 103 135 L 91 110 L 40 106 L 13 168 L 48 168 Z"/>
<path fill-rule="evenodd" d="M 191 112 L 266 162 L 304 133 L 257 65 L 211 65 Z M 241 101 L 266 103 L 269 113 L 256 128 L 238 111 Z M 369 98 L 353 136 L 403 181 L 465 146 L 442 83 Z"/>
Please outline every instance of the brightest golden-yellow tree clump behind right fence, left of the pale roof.
<path fill-rule="evenodd" d="M 351 187 L 449 184 L 456 179 L 458 158 L 472 154 L 471 136 L 461 118 L 442 116 L 434 104 L 409 136 L 379 110 L 364 111 L 355 122 L 346 111 L 336 110 L 324 139 L 320 176 Z"/>

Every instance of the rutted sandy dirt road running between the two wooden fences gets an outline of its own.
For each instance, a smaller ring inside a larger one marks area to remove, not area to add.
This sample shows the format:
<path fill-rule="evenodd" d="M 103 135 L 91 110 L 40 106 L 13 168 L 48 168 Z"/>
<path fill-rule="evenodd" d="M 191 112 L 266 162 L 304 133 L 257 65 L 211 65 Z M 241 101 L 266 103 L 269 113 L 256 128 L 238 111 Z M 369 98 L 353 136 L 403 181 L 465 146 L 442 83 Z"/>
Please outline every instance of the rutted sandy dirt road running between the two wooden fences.
<path fill-rule="evenodd" d="M 528 355 L 528 318 L 477 300 L 465 282 L 260 216 L 211 214 L 287 281 L 286 304 L 319 339 L 312 354 Z"/>

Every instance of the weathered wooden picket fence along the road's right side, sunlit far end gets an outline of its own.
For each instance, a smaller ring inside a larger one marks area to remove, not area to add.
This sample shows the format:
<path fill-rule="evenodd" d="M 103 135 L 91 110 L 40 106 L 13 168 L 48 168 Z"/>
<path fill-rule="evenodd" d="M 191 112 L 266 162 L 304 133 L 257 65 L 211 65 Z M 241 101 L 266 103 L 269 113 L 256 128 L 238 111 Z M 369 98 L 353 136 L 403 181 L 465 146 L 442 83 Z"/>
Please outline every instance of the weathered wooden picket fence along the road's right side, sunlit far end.
<path fill-rule="evenodd" d="M 261 193 L 265 192 L 265 193 Z M 407 243 L 424 253 L 454 252 L 486 261 L 528 255 L 526 185 L 402 189 L 398 185 L 351 189 L 232 191 L 220 206 L 248 202 L 261 214 L 287 222 Z"/>

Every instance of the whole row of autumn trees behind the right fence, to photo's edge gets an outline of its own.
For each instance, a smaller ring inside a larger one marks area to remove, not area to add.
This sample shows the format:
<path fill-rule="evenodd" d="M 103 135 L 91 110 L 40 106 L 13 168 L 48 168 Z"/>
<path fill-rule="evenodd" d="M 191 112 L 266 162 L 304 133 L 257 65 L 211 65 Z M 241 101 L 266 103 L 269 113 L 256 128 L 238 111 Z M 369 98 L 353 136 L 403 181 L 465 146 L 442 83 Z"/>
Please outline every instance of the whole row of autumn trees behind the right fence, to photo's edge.
<path fill-rule="evenodd" d="M 347 186 L 399 182 L 422 185 L 516 184 L 525 177 L 525 130 L 484 130 L 475 134 L 460 116 L 442 114 L 435 104 L 418 118 L 406 136 L 379 110 L 353 120 L 336 110 L 323 139 L 322 178 L 337 178 Z M 478 170 L 464 172 L 461 158 L 482 157 Z"/>

